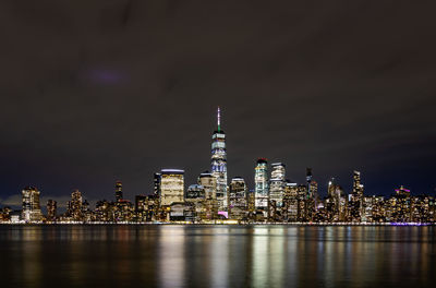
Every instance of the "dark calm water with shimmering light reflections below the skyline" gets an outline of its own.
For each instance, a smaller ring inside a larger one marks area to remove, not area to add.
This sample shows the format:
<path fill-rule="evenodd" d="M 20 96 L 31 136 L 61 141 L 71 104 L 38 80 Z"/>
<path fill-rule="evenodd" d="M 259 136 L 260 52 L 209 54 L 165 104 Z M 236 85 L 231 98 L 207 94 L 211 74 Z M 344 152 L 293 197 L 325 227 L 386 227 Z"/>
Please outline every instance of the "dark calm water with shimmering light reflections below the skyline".
<path fill-rule="evenodd" d="M 0 226 L 0 287 L 434 287 L 435 228 Z"/>

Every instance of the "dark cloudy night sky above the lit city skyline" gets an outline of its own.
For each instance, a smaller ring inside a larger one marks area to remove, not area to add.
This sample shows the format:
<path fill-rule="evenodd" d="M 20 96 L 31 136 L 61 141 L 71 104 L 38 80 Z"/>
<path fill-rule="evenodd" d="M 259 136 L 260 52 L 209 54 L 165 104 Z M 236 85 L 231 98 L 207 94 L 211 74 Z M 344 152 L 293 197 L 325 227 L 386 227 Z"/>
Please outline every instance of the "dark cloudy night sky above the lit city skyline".
<path fill-rule="evenodd" d="M 274 2 L 274 3 L 272 3 Z M 434 1 L 0 3 L 0 199 L 90 202 L 210 167 L 217 106 L 228 177 L 258 157 L 365 194 L 436 187 Z"/>

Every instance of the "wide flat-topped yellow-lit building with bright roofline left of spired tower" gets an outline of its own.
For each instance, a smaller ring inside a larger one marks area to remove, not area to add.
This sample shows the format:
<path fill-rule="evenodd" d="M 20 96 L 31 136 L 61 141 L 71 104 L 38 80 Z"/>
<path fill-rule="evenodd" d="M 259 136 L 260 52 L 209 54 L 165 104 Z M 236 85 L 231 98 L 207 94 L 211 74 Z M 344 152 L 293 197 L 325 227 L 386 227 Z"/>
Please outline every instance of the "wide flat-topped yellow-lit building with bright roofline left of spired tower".
<path fill-rule="evenodd" d="M 169 206 L 174 202 L 183 202 L 184 170 L 162 169 L 160 175 L 160 206 Z"/>

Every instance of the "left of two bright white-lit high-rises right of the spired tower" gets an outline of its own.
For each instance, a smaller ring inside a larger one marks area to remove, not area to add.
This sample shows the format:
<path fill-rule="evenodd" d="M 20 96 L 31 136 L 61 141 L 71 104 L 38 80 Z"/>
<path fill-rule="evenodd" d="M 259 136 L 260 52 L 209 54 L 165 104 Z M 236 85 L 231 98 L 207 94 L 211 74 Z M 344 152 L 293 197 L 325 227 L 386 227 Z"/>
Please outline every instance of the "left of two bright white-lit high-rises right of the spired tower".
<path fill-rule="evenodd" d="M 256 209 L 268 211 L 268 167 L 265 158 L 257 160 L 254 168 L 254 205 Z"/>

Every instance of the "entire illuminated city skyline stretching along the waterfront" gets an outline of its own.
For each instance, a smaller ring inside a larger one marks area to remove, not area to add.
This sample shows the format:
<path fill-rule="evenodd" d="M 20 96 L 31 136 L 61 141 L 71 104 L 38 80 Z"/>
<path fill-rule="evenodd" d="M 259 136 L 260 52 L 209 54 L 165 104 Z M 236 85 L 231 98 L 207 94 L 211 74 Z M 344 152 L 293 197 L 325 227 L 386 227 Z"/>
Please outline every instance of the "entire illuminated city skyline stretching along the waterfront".
<path fill-rule="evenodd" d="M 254 165 L 254 189 L 241 177 L 230 182 L 227 175 L 226 133 L 220 109 L 211 136 L 210 171 L 197 182 L 185 184 L 184 170 L 161 169 L 154 175 L 153 193 L 136 195 L 135 203 L 123 196 L 122 182 L 114 184 L 114 201 L 98 201 L 94 211 L 82 192 L 71 193 L 66 212 L 58 214 L 58 203 L 49 200 L 47 215 L 40 208 L 40 192 L 33 187 L 22 191 L 22 212 L 0 209 L 5 223 L 302 223 L 302 224 L 398 224 L 435 223 L 435 197 L 411 195 L 400 187 L 389 197 L 365 195 L 361 172 L 354 171 L 351 193 L 332 178 L 327 195 L 320 197 L 312 168 L 304 183 L 287 180 L 286 165 L 259 158 Z"/>

